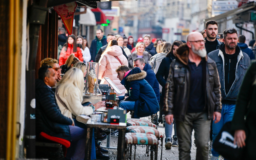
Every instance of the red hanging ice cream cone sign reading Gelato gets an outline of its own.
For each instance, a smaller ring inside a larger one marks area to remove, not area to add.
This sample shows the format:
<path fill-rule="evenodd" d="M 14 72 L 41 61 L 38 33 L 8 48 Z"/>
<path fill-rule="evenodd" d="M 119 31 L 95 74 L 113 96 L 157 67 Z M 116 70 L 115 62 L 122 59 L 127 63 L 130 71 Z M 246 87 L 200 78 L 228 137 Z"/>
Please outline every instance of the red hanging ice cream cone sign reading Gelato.
<path fill-rule="evenodd" d="M 74 13 L 76 12 L 76 7 L 76 2 L 71 2 L 53 7 L 53 9 L 58 13 L 62 22 L 64 23 L 69 35 L 72 34 Z"/>

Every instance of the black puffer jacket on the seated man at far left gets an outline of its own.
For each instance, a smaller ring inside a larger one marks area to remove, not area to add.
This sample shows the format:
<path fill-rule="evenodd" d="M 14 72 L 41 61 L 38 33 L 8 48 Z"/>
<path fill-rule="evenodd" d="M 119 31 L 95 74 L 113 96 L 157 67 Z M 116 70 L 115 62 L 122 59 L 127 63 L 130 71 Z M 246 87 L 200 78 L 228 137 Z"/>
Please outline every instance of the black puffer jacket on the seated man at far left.
<path fill-rule="evenodd" d="M 50 136 L 71 140 L 68 125 L 72 120 L 63 116 L 54 92 L 43 80 L 36 80 L 36 135 L 45 132 Z"/>

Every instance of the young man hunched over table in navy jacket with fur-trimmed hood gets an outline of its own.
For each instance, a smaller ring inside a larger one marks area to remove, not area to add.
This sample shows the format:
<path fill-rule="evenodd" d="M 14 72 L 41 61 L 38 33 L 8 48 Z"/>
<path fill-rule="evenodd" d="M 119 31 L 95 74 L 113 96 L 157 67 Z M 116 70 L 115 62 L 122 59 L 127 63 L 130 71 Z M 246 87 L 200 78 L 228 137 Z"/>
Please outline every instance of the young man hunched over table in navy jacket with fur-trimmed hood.
<path fill-rule="evenodd" d="M 139 67 L 129 70 L 127 66 L 119 66 L 116 73 L 129 93 L 128 98 L 120 101 L 119 107 L 127 112 L 133 110 L 134 118 L 152 116 L 159 111 L 156 94 L 144 79 L 147 76 L 145 71 L 141 71 Z"/>

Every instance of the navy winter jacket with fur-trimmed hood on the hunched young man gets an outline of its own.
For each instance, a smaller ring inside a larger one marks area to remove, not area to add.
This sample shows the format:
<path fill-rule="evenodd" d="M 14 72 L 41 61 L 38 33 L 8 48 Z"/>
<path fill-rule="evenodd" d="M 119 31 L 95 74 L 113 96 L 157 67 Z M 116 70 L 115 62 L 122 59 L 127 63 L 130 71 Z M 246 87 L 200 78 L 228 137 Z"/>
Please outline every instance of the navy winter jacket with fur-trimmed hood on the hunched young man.
<path fill-rule="evenodd" d="M 145 71 L 141 71 L 140 68 L 135 67 L 121 81 L 121 84 L 129 92 L 129 97 L 125 101 L 135 102 L 135 118 L 150 116 L 159 111 L 156 94 L 144 79 L 146 76 L 147 73 Z"/>

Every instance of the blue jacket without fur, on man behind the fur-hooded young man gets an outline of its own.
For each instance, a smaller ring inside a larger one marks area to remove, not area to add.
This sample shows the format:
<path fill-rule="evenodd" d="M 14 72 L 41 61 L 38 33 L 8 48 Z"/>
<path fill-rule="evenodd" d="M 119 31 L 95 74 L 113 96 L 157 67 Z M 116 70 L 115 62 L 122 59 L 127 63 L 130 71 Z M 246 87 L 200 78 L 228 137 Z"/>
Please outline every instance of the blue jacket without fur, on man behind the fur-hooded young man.
<path fill-rule="evenodd" d="M 156 93 L 156 98 L 158 103 L 160 102 L 160 90 L 159 90 L 159 83 L 156 79 L 156 74 L 155 72 L 152 70 L 152 67 L 146 63 L 145 67 L 143 68 L 143 70 L 145 72 L 147 72 L 147 76 L 144 78 L 148 84 L 153 88 L 153 90 Z"/>

